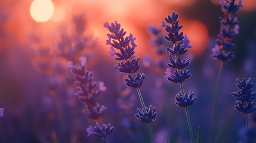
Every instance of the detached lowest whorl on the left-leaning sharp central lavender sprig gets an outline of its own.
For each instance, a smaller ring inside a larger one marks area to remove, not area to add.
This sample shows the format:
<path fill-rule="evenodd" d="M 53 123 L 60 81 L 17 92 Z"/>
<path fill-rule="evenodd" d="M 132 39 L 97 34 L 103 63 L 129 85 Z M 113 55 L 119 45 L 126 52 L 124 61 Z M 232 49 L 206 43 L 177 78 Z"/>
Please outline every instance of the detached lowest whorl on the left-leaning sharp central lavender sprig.
<path fill-rule="evenodd" d="M 150 123 L 156 121 L 156 107 L 153 105 L 149 105 L 149 108 L 146 107 L 146 111 L 144 109 L 137 108 L 138 114 L 135 114 L 137 119 L 139 119 L 143 123 Z"/>

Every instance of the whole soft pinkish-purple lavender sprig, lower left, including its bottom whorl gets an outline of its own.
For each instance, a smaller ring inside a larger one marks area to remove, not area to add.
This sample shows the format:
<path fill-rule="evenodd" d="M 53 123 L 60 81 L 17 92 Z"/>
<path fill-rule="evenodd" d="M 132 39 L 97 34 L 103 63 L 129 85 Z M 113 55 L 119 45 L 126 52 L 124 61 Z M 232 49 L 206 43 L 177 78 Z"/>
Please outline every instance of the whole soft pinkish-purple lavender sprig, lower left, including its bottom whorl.
<path fill-rule="evenodd" d="M 87 59 L 85 57 L 80 57 L 79 62 L 80 64 L 73 65 L 72 61 L 69 61 L 68 69 L 73 74 L 75 84 L 78 85 L 75 95 L 85 104 L 85 109 L 82 112 L 96 122 L 94 127 L 87 128 L 88 136 L 99 136 L 103 138 L 104 142 L 107 142 L 107 136 L 115 128 L 110 124 L 103 124 L 106 107 L 97 101 L 101 92 L 106 91 L 106 87 L 103 82 L 93 82 L 93 72 L 86 69 Z M 101 124 L 103 125 L 101 126 Z"/>

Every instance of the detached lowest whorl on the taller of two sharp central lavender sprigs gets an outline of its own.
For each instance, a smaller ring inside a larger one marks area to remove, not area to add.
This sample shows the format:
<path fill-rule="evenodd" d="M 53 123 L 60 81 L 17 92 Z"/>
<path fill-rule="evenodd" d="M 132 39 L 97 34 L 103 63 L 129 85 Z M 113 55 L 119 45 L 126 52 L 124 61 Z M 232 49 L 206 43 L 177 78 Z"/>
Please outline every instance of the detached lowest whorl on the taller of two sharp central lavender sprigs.
<path fill-rule="evenodd" d="M 185 94 L 183 96 L 181 92 L 176 95 L 175 97 L 175 104 L 180 106 L 180 107 L 187 107 L 188 105 L 194 104 L 196 97 L 193 97 L 194 92 L 190 91 L 189 94 Z"/>

